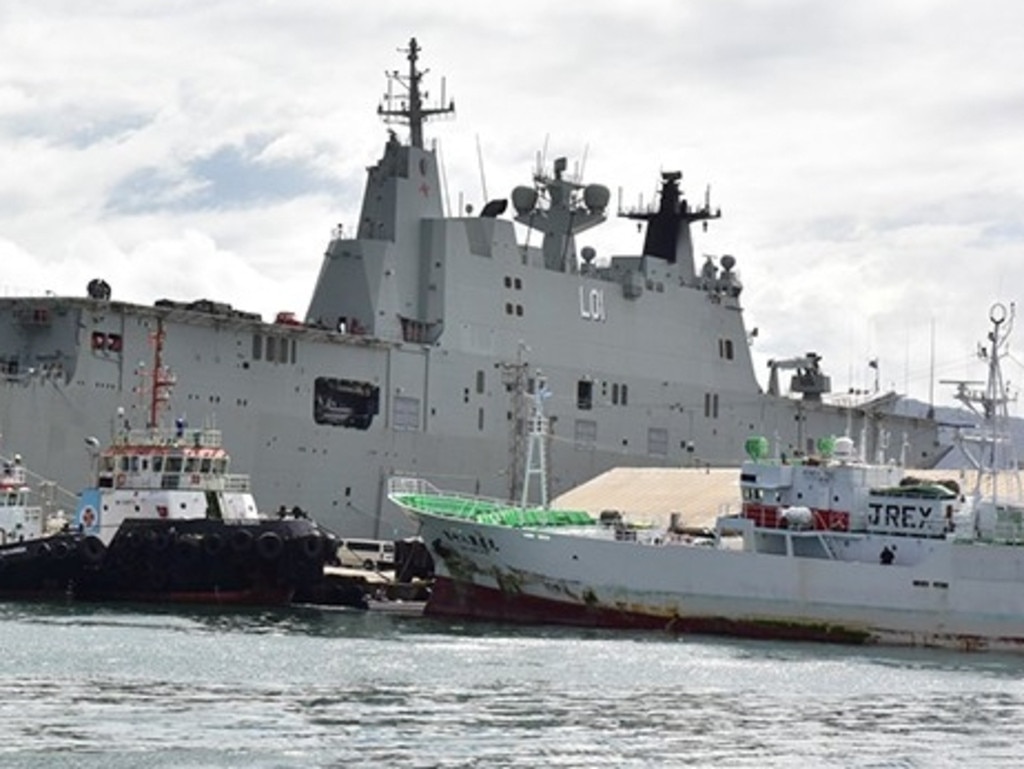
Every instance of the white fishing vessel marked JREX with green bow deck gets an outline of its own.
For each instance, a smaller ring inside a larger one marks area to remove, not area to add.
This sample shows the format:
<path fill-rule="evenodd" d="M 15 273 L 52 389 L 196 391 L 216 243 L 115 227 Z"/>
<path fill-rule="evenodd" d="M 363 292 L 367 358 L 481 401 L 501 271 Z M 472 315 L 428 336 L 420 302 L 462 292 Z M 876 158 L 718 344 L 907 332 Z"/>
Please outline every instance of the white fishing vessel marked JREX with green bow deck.
<path fill-rule="evenodd" d="M 1006 403 L 996 384 L 1012 319 L 993 308 L 989 424 Z M 914 478 L 895 459 L 868 462 L 846 436 L 807 458 L 769 456 L 764 438 L 746 448 L 741 510 L 708 538 L 415 478 L 393 478 L 390 497 L 434 557 L 432 614 L 1024 650 L 1024 507 L 966 499 L 955 480 Z"/>

